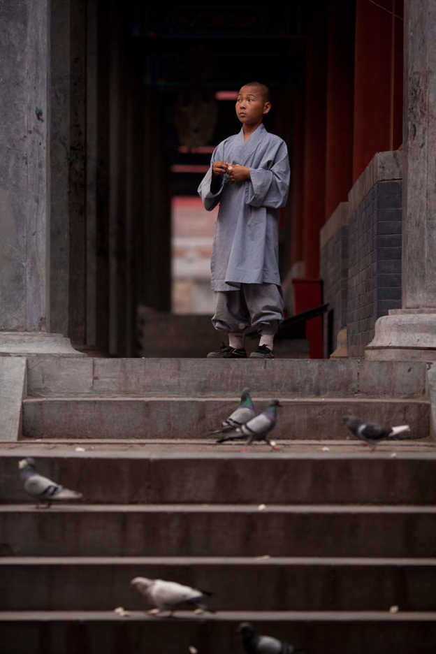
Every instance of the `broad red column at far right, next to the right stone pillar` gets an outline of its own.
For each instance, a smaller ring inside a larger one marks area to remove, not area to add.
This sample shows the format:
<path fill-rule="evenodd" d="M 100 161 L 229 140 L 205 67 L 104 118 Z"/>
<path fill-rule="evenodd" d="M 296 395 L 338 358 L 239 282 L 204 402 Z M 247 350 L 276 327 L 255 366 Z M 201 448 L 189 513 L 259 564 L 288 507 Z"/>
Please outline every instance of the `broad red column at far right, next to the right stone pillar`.
<path fill-rule="evenodd" d="M 401 5 L 400 0 L 356 2 L 354 181 L 376 152 L 400 145 Z"/>

